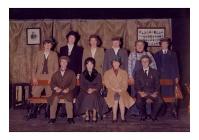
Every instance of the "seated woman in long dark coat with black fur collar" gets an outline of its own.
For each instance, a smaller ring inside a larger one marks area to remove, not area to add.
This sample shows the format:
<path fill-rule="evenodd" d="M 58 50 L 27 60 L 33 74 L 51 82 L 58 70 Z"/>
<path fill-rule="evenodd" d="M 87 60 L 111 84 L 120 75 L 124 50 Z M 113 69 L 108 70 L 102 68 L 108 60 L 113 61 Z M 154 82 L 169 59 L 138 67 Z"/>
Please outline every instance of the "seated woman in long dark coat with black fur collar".
<path fill-rule="evenodd" d="M 95 70 L 95 59 L 88 57 L 85 62 L 85 70 L 80 75 L 80 94 L 78 96 L 79 114 L 86 114 L 85 121 L 97 121 L 97 112 L 100 110 L 100 89 L 102 87 L 102 77 Z M 102 97 L 101 97 L 102 98 Z M 104 101 L 105 103 L 105 101 Z M 90 114 L 92 112 L 92 115 Z"/>

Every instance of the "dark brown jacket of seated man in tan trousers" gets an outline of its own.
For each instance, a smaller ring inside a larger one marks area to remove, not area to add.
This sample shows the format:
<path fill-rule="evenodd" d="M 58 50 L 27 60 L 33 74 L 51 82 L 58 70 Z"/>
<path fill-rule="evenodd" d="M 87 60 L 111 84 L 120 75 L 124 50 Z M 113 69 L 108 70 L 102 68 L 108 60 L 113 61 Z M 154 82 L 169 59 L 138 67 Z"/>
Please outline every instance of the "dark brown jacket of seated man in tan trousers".
<path fill-rule="evenodd" d="M 64 75 L 61 75 L 60 71 L 57 71 L 53 74 L 51 79 L 51 89 L 52 89 L 52 96 L 49 98 L 48 102 L 51 104 L 55 96 L 64 97 L 67 101 L 72 102 L 73 100 L 73 90 L 76 85 L 76 76 L 72 70 L 67 69 Z M 55 87 L 59 87 L 62 90 L 69 88 L 69 93 L 63 94 L 56 93 L 54 90 Z"/>

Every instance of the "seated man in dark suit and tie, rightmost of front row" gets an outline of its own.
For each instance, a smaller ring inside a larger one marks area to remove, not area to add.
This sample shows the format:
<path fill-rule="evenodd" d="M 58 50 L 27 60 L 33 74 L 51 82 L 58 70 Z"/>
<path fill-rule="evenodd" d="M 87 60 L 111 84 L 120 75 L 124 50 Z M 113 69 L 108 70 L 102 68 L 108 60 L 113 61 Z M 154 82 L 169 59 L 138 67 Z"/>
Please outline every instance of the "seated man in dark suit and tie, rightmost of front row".
<path fill-rule="evenodd" d="M 146 103 L 151 102 L 151 119 L 157 120 L 158 111 L 163 103 L 160 94 L 160 80 L 157 70 L 149 67 L 151 59 L 148 55 L 141 57 L 142 69 L 135 73 L 136 105 L 140 110 L 141 120 L 146 120 Z"/>

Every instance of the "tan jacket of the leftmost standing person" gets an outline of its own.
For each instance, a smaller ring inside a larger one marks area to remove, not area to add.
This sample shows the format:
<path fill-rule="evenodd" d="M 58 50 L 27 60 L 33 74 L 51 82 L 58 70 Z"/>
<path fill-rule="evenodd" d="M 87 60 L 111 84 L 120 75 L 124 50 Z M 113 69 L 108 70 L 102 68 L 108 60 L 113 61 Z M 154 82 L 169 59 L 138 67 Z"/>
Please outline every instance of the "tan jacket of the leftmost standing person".
<path fill-rule="evenodd" d="M 32 65 L 32 78 L 36 79 L 45 79 L 50 80 L 53 73 L 55 73 L 59 66 L 58 66 L 58 56 L 57 53 L 50 51 L 48 55 L 48 74 L 44 76 L 42 74 L 44 65 L 44 51 L 39 51 L 33 56 L 33 65 Z"/>

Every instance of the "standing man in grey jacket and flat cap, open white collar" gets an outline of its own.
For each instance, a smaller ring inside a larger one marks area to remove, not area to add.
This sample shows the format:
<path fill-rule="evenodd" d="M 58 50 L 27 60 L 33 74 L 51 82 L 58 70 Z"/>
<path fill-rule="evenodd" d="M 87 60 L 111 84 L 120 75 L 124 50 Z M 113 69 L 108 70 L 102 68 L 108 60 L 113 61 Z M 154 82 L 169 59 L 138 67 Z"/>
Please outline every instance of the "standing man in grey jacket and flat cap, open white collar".
<path fill-rule="evenodd" d="M 115 57 L 121 58 L 121 66 L 123 70 L 128 71 L 128 53 L 127 50 L 120 48 L 121 38 L 114 37 L 112 38 L 112 47 L 107 49 L 104 56 L 103 72 L 112 68 L 111 62 Z"/>

